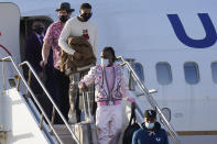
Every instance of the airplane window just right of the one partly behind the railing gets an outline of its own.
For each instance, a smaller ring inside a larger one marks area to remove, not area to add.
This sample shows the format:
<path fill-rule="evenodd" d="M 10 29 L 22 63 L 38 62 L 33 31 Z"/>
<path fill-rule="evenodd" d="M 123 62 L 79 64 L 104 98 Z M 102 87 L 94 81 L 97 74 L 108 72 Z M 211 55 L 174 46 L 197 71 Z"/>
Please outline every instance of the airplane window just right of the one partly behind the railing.
<path fill-rule="evenodd" d="M 172 71 L 171 66 L 167 63 L 156 64 L 156 78 L 159 84 L 169 85 L 172 82 Z"/>

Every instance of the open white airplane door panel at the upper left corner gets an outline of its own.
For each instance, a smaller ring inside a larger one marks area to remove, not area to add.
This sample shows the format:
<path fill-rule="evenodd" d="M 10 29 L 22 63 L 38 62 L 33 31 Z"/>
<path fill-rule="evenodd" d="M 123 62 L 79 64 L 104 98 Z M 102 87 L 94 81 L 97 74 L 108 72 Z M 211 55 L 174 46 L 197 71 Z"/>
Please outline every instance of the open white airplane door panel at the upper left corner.
<path fill-rule="evenodd" d="M 20 63 L 20 10 L 10 2 L 0 2 L 0 58 L 11 55 Z"/>

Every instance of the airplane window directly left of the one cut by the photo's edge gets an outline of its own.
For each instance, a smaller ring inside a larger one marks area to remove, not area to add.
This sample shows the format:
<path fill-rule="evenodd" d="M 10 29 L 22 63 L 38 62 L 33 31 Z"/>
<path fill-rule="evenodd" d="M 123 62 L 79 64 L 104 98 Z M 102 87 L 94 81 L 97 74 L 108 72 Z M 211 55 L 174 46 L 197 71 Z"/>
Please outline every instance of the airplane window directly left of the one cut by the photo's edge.
<path fill-rule="evenodd" d="M 185 80 L 188 84 L 197 84 L 199 81 L 199 70 L 196 63 L 185 63 Z"/>

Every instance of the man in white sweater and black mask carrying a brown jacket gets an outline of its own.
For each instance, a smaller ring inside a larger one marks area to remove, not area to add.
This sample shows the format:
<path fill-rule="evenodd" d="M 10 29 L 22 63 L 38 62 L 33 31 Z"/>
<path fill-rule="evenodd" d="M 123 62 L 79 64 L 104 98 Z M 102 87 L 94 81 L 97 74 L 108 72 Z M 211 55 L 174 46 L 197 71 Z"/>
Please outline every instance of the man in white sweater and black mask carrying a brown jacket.
<path fill-rule="evenodd" d="M 68 37 L 73 36 L 80 36 L 85 41 L 87 41 L 91 47 L 94 55 L 96 56 L 97 52 L 97 26 L 94 22 L 91 22 L 89 19 L 91 18 L 91 5 L 89 3 L 83 3 L 79 9 L 79 15 L 69 19 L 58 40 L 58 45 L 61 48 L 70 55 L 73 59 L 77 59 L 77 62 L 83 60 L 87 55 L 80 53 L 79 51 L 75 51 L 69 47 L 68 45 Z M 77 43 L 77 45 L 79 45 Z M 80 47 L 82 48 L 82 47 Z M 88 65 L 87 65 L 88 66 Z M 90 68 L 90 67 L 89 67 Z M 88 69 L 89 69 L 88 68 Z M 73 73 L 69 75 L 69 123 L 77 123 L 80 121 L 80 110 L 79 110 L 79 89 L 78 89 L 78 82 L 84 77 L 85 74 L 87 74 L 87 70 L 80 71 L 77 70 L 77 73 Z M 90 107 L 93 109 L 94 103 L 94 86 L 89 87 L 88 92 L 90 93 Z"/>

